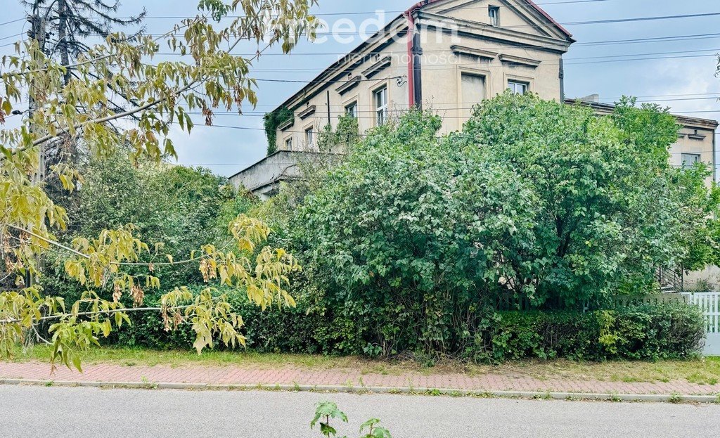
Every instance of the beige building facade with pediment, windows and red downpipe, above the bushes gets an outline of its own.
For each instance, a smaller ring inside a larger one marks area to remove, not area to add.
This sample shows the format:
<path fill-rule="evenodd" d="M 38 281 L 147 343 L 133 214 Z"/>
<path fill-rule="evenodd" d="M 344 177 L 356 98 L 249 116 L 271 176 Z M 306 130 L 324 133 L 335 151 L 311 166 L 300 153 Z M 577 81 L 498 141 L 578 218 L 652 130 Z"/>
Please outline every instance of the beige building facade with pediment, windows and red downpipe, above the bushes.
<path fill-rule="evenodd" d="M 528 0 L 426 0 L 339 59 L 281 107 L 278 151 L 316 151 L 318 132 L 351 113 L 362 131 L 410 107 L 434 110 L 443 132 L 512 88 L 563 98 L 572 36 Z"/>

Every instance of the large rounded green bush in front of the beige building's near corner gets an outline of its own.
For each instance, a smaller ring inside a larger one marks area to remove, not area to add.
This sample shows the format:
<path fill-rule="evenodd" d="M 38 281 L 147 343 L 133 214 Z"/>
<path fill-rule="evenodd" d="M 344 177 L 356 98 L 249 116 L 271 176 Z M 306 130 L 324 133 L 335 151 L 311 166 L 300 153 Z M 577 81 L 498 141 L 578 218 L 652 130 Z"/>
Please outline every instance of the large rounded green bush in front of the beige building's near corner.
<path fill-rule="evenodd" d="M 323 303 L 386 355 L 456 351 L 514 276 L 510 249 L 532 245 L 533 195 L 478 148 L 438 140 L 440 126 L 412 112 L 375 130 L 289 226 Z"/>

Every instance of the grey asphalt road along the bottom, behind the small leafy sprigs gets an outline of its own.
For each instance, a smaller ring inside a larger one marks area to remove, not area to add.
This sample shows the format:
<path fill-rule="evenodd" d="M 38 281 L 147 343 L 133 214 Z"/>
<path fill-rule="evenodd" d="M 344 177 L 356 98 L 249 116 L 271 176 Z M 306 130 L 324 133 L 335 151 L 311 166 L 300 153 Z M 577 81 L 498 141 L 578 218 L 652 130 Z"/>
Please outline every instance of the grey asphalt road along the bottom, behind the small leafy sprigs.
<path fill-rule="evenodd" d="M 403 437 L 720 437 L 720 406 L 282 392 L 0 386 L 0 437 L 320 437 L 318 401 Z"/>

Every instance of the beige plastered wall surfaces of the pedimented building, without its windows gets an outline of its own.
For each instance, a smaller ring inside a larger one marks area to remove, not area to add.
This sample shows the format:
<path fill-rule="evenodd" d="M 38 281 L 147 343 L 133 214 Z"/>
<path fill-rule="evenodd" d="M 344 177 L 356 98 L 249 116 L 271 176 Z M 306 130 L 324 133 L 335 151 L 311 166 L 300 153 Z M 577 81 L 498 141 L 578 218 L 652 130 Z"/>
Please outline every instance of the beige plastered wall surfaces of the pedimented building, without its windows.
<path fill-rule="evenodd" d="M 442 133 L 462 129 L 472 106 L 482 101 L 464 102 L 462 73 L 484 77 L 485 98 L 502 93 L 508 88 L 508 81 L 517 80 L 528 84 L 528 91 L 543 99 L 562 99 L 562 54 L 572 40 L 566 35 L 560 36 L 557 30 L 549 30 L 546 25 L 533 24 L 537 17 L 523 15 L 520 9 L 509 7 L 502 9 L 500 27 L 491 27 L 487 10 L 490 4 L 489 0 L 447 1 L 413 13 L 415 32 L 419 34 L 423 50 L 420 58 L 423 98 L 418 103 L 444 118 Z M 315 144 L 311 143 L 317 143 L 318 133 L 328 122 L 336 127 L 338 117 L 351 102 L 358 104 L 360 131 L 374 128 L 377 117 L 373 92 L 382 86 L 387 86 L 391 118 L 408 110 L 411 79 L 408 26 L 406 17 L 398 17 L 386 28 L 387 34 L 376 35 L 356 50 L 355 55 L 348 55 L 345 62 L 318 76 L 317 86 L 306 87 L 286 102 L 294 112 L 294 120 L 292 125 L 278 129 L 277 149 L 287 150 L 287 142 L 292 140 L 293 151 L 316 151 Z M 462 50 L 458 52 L 456 48 Z M 470 53 L 480 50 L 482 56 L 468 55 L 467 50 Z M 374 75 L 366 74 L 370 66 L 385 57 L 390 58 L 390 66 Z M 507 57 L 521 63 L 509 62 Z M 360 81 L 353 89 L 338 91 L 354 78 Z M 312 114 L 303 114 L 312 107 L 315 107 Z M 305 131 L 309 128 L 315 133 L 314 142 L 306 138 Z"/>

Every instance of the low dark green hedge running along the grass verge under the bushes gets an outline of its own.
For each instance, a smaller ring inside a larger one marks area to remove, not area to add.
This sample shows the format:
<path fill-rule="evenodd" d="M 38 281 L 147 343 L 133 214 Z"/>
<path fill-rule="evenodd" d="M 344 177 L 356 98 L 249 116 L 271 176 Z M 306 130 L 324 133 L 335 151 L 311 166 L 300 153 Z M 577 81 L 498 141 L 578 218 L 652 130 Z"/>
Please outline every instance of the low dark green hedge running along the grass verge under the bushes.
<path fill-rule="evenodd" d="M 148 304 L 153 305 L 152 300 Z M 331 355 L 374 352 L 377 334 L 361 326 L 357 322 L 361 318 L 336 316 L 307 298 L 301 297 L 297 308 L 265 311 L 248 303 L 243 294 L 233 295 L 231 303 L 243 316 L 247 347 L 253 351 Z M 114 334 L 113 344 L 152 349 L 192 346 L 194 334 L 189 326 L 168 333 L 156 313 L 131 318 L 132 326 Z M 489 321 L 482 330 L 469 335 L 462 351 L 451 353 L 472 362 L 560 357 L 589 361 L 684 359 L 698 354 L 705 334 L 700 311 L 681 302 L 588 313 L 509 311 L 495 313 Z"/>

